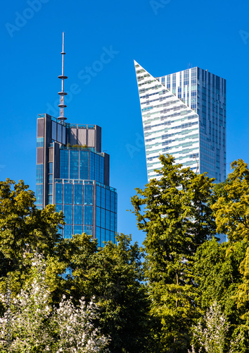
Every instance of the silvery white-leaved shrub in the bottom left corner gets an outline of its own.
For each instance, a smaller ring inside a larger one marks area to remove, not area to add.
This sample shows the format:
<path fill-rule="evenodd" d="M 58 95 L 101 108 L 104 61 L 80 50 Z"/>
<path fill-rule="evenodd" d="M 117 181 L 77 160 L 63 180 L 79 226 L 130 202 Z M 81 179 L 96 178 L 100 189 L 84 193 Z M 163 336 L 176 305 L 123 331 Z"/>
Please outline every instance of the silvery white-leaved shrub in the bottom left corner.
<path fill-rule="evenodd" d="M 18 297 L 11 299 L 11 327 L 7 312 L 0 318 L 0 352 L 108 352 L 109 339 L 92 323 L 98 311 L 93 301 L 86 305 L 82 298 L 75 307 L 71 299 L 65 300 L 63 296 L 58 308 L 52 306 L 51 292 L 46 286 L 46 263 L 37 256 L 32 265 L 34 280 Z M 4 294 L 0 294 L 0 301 L 5 306 Z"/>

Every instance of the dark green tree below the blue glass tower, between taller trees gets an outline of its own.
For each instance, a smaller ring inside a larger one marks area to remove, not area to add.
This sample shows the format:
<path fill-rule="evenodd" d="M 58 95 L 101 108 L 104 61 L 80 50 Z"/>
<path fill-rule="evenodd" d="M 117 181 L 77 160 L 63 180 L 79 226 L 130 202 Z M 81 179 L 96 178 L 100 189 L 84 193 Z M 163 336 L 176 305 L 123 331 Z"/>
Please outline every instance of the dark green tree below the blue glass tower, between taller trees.
<path fill-rule="evenodd" d="M 110 352 L 148 352 L 150 336 L 148 298 L 143 280 L 141 256 L 131 237 L 117 235 L 97 250 L 87 234 L 77 234 L 65 246 L 64 256 L 72 268 L 68 293 L 75 303 L 84 296 L 95 298 L 100 308 L 98 323 L 110 335 Z M 70 245 L 71 244 L 71 245 Z"/>

